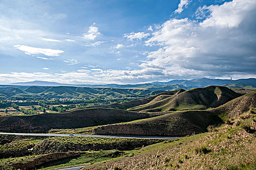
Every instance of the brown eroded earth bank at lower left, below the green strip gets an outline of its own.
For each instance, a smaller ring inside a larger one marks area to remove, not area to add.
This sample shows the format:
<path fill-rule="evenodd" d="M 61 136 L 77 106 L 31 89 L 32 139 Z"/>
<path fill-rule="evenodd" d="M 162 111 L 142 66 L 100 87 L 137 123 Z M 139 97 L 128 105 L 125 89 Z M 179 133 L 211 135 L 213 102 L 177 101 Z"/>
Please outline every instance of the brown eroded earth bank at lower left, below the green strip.
<path fill-rule="evenodd" d="M 34 160 L 31 160 L 29 162 L 26 163 L 21 163 L 21 162 L 17 162 L 17 163 L 13 163 L 12 166 L 17 168 L 17 169 L 21 169 L 21 170 L 33 170 L 37 167 L 42 167 L 43 164 L 51 162 L 51 161 L 56 161 L 58 159 L 63 159 L 63 158 L 67 158 L 67 157 L 75 157 L 75 156 L 80 156 L 81 153 L 51 153 L 51 154 L 46 154 L 43 156 L 40 156 L 38 158 L 35 158 Z"/>

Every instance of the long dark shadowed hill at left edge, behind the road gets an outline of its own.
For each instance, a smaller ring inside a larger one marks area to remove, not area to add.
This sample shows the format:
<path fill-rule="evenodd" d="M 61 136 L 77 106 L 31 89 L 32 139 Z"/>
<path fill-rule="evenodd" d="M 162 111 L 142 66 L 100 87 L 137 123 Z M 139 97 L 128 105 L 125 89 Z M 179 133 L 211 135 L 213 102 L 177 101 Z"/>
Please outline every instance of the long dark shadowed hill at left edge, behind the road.
<path fill-rule="evenodd" d="M 81 128 L 150 118 L 152 114 L 119 109 L 91 108 L 65 113 L 0 117 L 1 132 L 47 132 L 50 129 Z"/>

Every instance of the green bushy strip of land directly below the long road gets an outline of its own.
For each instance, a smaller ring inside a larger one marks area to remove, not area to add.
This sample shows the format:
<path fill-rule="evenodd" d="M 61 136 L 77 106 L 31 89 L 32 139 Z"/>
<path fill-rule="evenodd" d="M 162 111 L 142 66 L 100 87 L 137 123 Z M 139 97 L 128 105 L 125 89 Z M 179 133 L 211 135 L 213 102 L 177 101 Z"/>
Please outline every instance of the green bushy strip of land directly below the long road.
<path fill-rule="evenodd" d="M 87 141 L 88 140 L 88 141 Z M 38 141 L 33 143 L 31 141 Z M 67 153 L 99 150 L 126 151 L 163 142 L 163 139 L 128 139 L 112 142 L 91 142 L 86 137 L 30 137 L 0 135 L 0 158 L 21 157 L 29 155 Z M 33 149 L 32 149 L 33 148 Z"/>

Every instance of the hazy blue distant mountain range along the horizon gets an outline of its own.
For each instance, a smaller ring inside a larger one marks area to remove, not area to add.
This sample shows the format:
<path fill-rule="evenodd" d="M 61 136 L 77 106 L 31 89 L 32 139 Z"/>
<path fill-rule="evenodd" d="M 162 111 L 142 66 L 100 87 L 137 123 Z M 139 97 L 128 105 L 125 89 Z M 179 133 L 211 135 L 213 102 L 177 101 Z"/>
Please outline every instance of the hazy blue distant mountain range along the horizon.
<path fill-rule="evenodd" d="M 191 89 L 195 87 L 205 87 L 208 85 L 226 85 L 226 84 L 243 84 L 242 86 L 251 85 L 256 87 L 256 79 L 238 79 L 238 80 L 228 80 L 228 79 L 193 79 L 193 80 L 171 80 L 169 82 L 152 82 L 146 84 L 135 84 L 135 85 L 118 85 L 118 84 L 107 84 L 107 85 L 72 85 L 72 84 L 61 84 L 55 82 L 45 82 L 45 81 L 33 81 L 33 82 L 20 82 L 12 83 L 10 85 L 37 85 L 37 86 L 76 86 L 76 87 L 101 87 L 101 88 L 141 88 L 154 90 L 170 90 L 171 87 L 176 86 L 183 89 Z M 170 86 L 171 85 L 171 86 Z M 161 87 L 161 89 L 159 88 Z M 150 89 L 151 88 L 151 89 Z M 177 89 L 177 88 L 176 88 Z"/>

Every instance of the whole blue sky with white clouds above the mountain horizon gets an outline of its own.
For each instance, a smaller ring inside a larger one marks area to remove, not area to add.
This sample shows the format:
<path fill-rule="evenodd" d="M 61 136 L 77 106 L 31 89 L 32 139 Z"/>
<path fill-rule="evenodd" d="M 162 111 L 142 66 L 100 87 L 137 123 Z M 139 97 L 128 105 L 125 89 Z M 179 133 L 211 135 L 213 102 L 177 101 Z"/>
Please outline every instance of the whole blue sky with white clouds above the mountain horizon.
<path fill-rule="evenodd" d="M 0 0 L 0 84 L 256 78 L 256 0 Z"/>

